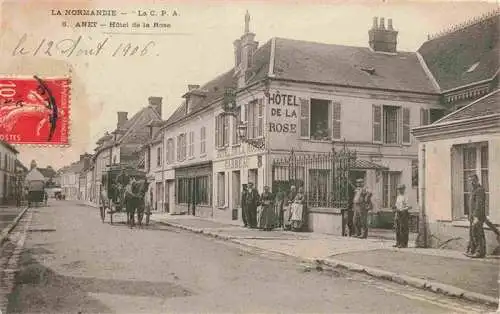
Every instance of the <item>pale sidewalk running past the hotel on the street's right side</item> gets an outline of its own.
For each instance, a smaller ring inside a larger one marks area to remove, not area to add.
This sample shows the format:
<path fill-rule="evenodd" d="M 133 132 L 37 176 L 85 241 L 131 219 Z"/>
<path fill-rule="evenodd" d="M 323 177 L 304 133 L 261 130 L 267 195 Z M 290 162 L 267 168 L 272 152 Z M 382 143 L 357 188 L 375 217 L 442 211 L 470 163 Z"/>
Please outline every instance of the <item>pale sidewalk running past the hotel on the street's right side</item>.
<path fill-rule="evenodd" d="M 317 233 L 265 232 L 238 222 L 154 213 L 151 220 L 327 267 L 392 280 L 471 301 L 498 304 L 500 260 L 469 259 L 461 252 L 393 248 L 393 240 L 356 239 Z M 410 243 L 413 245 L 414 241 Z"/>

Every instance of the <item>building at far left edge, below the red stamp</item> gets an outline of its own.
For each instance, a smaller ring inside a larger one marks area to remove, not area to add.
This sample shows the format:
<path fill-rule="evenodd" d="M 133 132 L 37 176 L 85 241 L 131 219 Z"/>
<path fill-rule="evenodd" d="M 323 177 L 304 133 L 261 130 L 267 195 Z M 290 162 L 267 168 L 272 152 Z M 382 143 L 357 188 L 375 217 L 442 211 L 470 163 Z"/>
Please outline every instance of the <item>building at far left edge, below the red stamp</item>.
<path fill-rule="evenodd" d="M 17 154 L 14 146 L 0 141 L 0 202 L 3 204 L 15 198 Z"/>

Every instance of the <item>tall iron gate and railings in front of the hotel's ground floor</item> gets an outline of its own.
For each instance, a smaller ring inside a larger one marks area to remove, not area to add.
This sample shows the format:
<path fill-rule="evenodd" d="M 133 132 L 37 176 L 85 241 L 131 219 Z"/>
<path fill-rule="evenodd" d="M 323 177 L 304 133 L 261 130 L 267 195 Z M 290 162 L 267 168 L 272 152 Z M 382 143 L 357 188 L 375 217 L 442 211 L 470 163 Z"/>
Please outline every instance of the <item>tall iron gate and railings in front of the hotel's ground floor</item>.
<path fill-rule="evenodd" d="M 303 188 L 310 208 L 346 209 L 349 203 L 349 171 L 356 152 L 344 147 L 328 153 L 297 154 L 275 159 L 272 163 L 272 189 L 288 192 L 294 185 Z"/>

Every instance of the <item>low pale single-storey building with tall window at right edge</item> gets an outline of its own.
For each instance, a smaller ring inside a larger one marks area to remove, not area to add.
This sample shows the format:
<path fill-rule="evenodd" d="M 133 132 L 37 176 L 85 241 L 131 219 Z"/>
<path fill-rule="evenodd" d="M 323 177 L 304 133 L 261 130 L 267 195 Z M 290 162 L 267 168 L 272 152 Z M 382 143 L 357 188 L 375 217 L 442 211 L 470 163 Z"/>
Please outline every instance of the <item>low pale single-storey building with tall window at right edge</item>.
<path fill-rule="evenodd" d="M 486 192 L 486 215 L 500 224 L 500 106 L 499 91 L 414 130 L 420 141 L 421 207 L 427 220 L 428 245 L 443 243 L 465 250 L 469 239 L 471 187 L 476 174 Z M 496 165 L 496 166 L 495 166 Z M 488 249 L 498 246 L 487 231 Z"/>

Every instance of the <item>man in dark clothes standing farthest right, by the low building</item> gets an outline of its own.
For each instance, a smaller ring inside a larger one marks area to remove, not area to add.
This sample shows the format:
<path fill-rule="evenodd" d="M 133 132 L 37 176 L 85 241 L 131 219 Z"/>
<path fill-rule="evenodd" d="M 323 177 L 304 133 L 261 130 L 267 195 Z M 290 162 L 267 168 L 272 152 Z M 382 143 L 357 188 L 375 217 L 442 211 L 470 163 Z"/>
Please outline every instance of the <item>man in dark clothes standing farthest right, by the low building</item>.
<path fill-rule="evenodd" d="M 486 239 L 483 224 L 486 221 L 484 188 L 479 184 L 479 178 L 473 174 L 468 178 L 472 187 L 469 206 L 469 247 L 466 255 L 472 258 L 483 258 L 486 256 Z"/>

